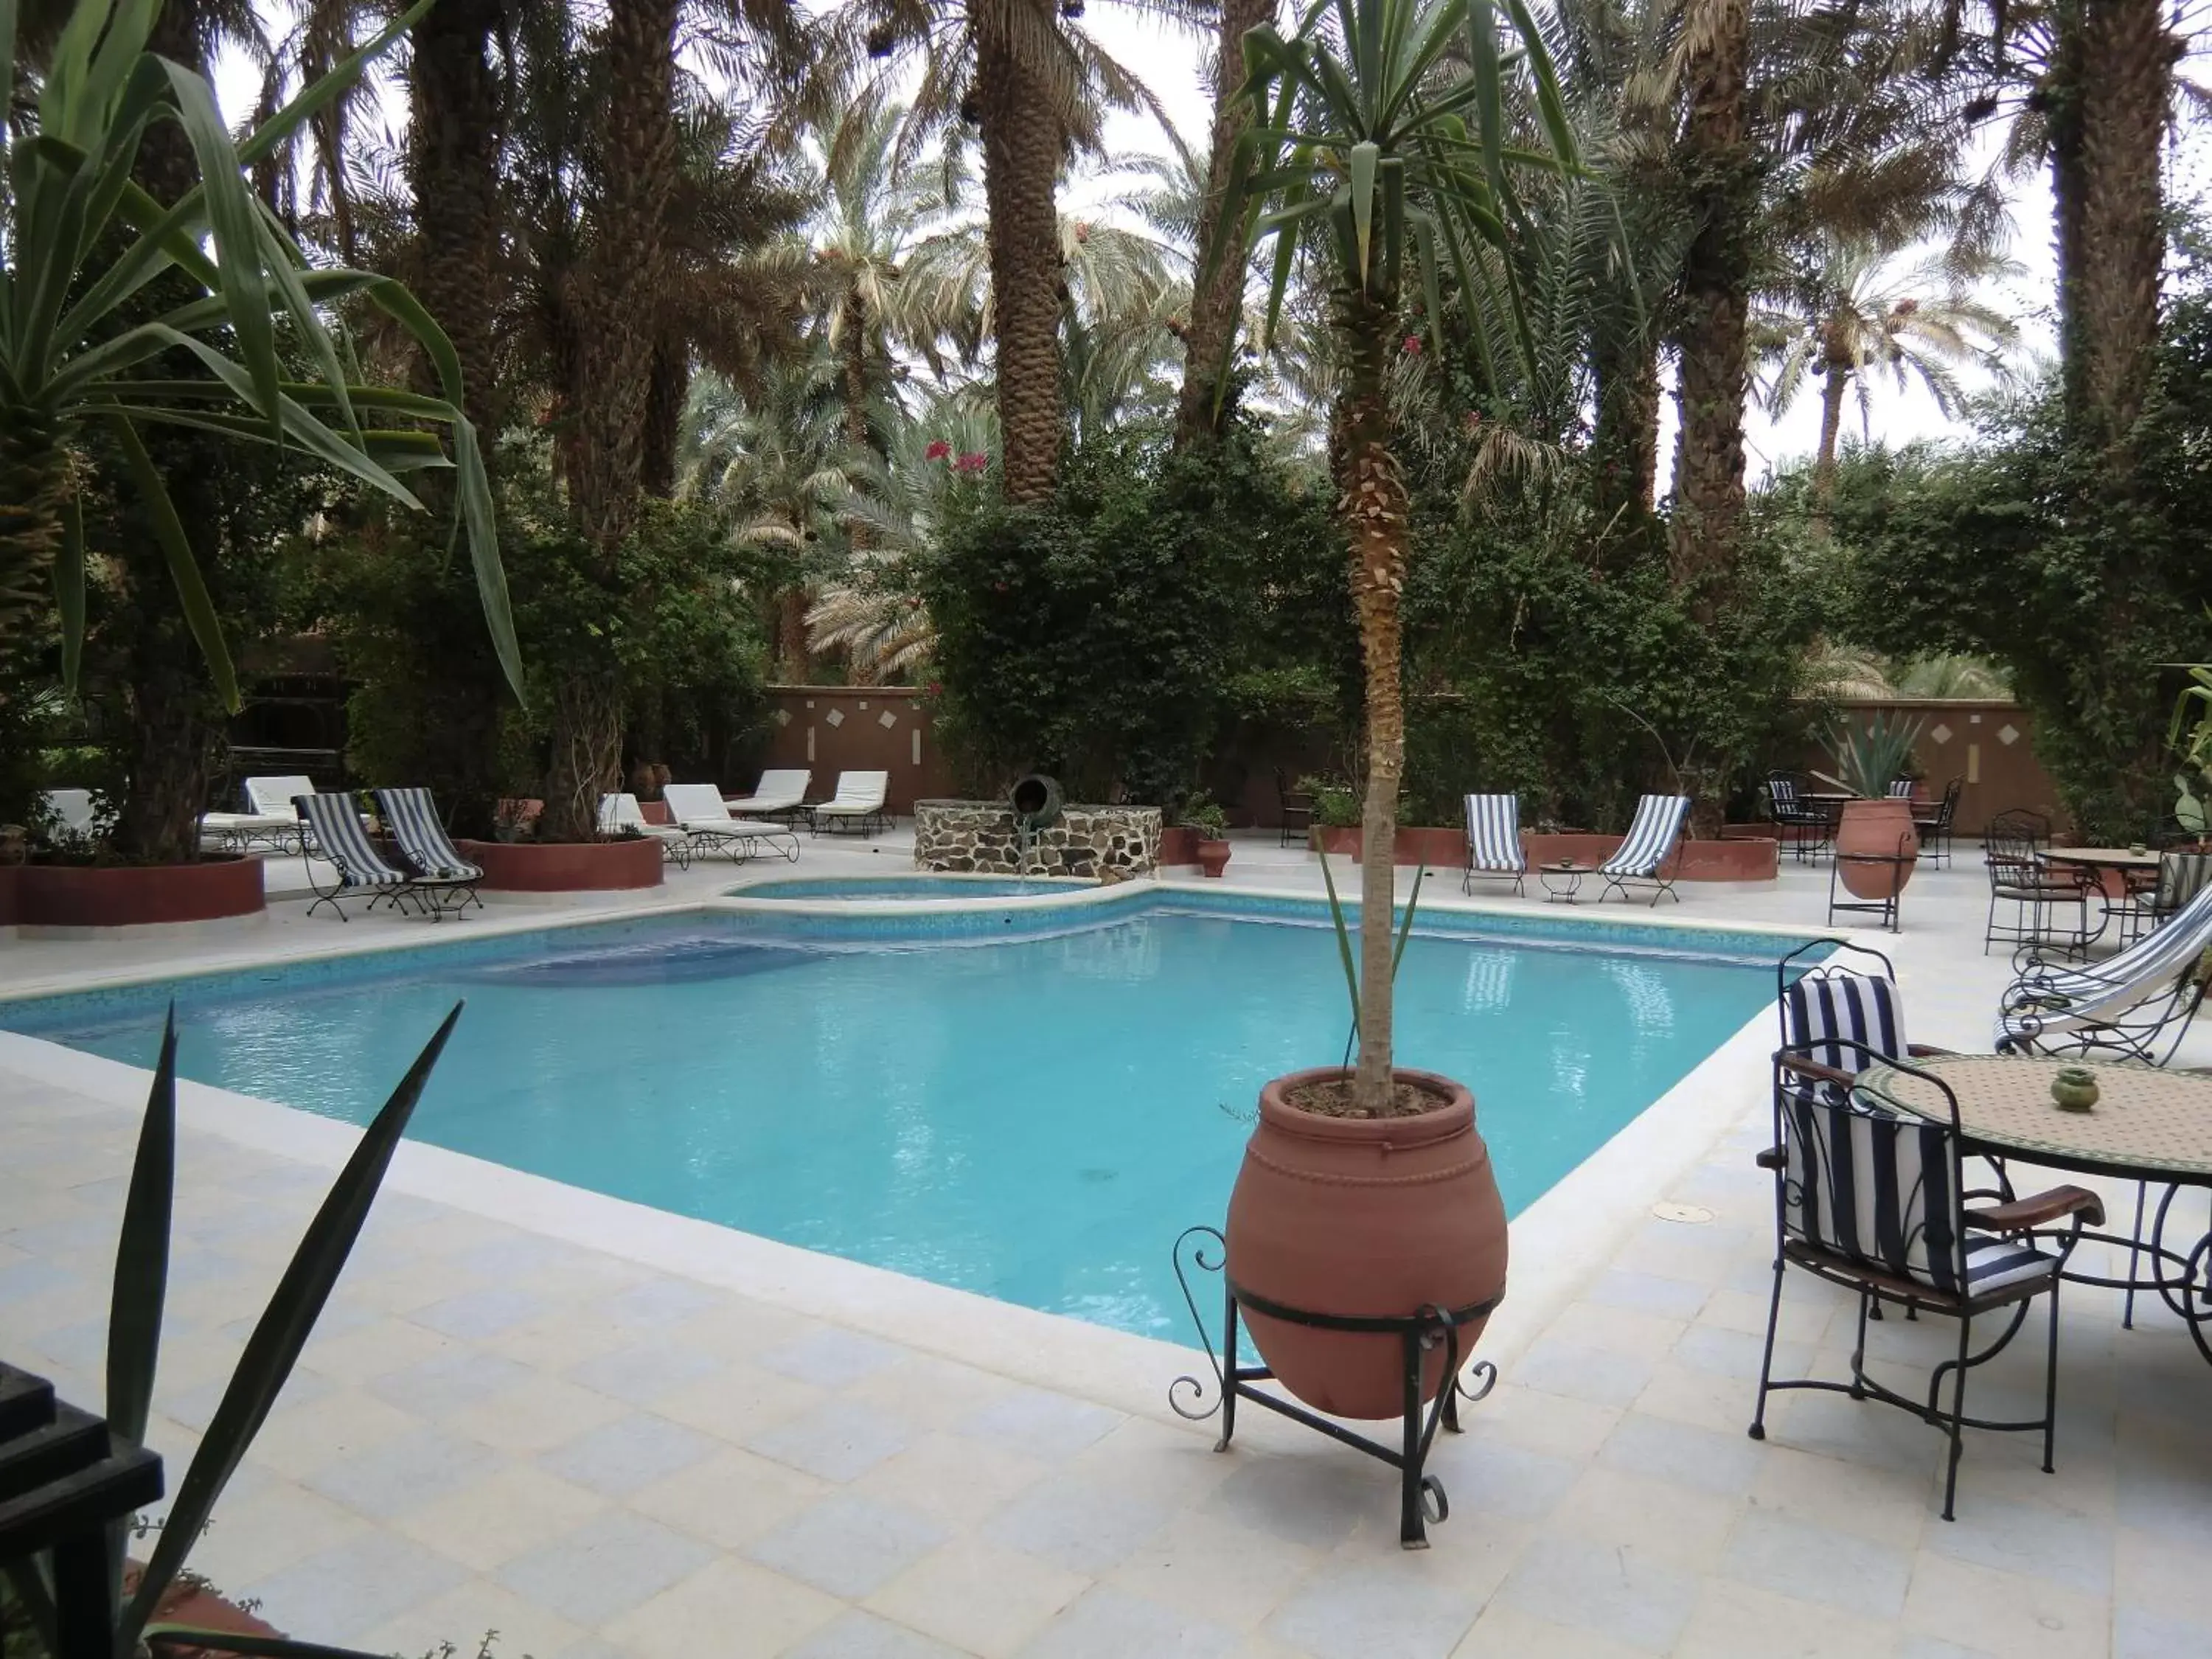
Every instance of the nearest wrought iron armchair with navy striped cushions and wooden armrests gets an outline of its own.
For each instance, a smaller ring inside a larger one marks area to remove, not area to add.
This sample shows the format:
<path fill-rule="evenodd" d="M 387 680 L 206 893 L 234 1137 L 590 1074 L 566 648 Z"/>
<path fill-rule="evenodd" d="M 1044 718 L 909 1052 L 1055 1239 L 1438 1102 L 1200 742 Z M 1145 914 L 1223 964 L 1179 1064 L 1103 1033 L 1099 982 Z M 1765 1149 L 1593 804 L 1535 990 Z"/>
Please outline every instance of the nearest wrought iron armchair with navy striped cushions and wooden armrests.
<path fill-rule="evenodd" d="M 1885 1060 L 1874 1048 L 1832 1037 L 1858 1051 L 1860 1068 Z M 1944 1469 L 1942 1517 L 1958 1506 L 1958 1462 L 1966 1429 L 2044 1436 L 2051 1471 L 2057 1436 L 2059 1387 L 2059 1274 L 2084 1225 L 2104 1221 L 2095 1192 L 2062 1186 L 2028 1199 L 1969 1208 L 1960 1168 L 1958 1097 L 1931 1071 L 1887 1057 L 1898 1073 L 1931 1084 L 1944 1117 L 1907 1113 L 1871 1093 L 1849 1071 L 1812 1057 L 1812 1048 L 1774 1055 L 1774 1148 L 1759 1164 L 1774 1172 L 1774 1294 L 1767 1303 L 1767 1345 L 1759 1365 L 1759 1405 L 1752 1440 L 1767 1438 L 1767 1396 L 1778 1389 L 1820 1389 L 1854 1400 L 1876 1400 L 1911 1411 L 1942 1429 L 1951 1442 Z M 2059 1223 L 2066 1223 L 2059 1230 Z M 2042 1248 L 2051 1243 L 2053 1248 Z M 1783 1303 L 1783 1274 L 1809 1272 L 1858 1296 L 1858 1343 L 1849 1380 L 1774 1378 L 1774 1327 Z M 1986 1365 L 2020 1334 L 2037 1296 L 2051 1298 L 2044 1413 L 2028 1420 L 1966 1416 L 1966 1371 Z M 1900 1394 L 1867 1374 L 1867 1321 L 1880 1305 L 1958 1321 L 1958 1354 L 1929 1374 L 1927 1398 Z M 1975 1352 L 1978 1318 L 2004 1314 L 2004 1329 Z M 1951 1405 L 1942 1405 L 1944 1376 Z"/>

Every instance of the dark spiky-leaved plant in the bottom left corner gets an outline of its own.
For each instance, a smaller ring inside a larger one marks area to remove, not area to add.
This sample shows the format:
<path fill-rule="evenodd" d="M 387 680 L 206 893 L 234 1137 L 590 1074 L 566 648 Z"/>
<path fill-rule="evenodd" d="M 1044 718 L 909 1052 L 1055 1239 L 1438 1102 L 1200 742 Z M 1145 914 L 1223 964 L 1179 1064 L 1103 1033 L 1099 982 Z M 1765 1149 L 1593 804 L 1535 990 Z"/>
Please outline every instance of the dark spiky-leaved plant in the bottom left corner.
<path fill-rule="evenodd" d="M 208 1420 L 208 1431 L 199 1440 L 199 1451 L 177 1482 L 161 1522 L 159 1544 L 153 1559 L 139 1573 L 128 1597 L 124 1584 L 126 1531 L 115 1528 L 108 1551 L 113 1575 L 111 1606 L 119 1608 L 115 1621 L 115 1659 L 133 1659 L 142 1644 L 177 1648 L 210 1648 L 219 1652 L 254 1652 L 270 1659 L 347 1659 L 343 1650 L 330 1646 L 281 1641 L 265 1637 L 234 1637 L 226 1632 L 199 1632 L 173 1624 L 155 1624 L 153 1615 L 161 1597 L 177 1584 L 186 1555 L 208 1526 L 215 1502 L 230 1484 L 246 1449 L 252 1444 L 270 1407 L 292 1376 L 292 1365 L 314 1321 L 330 1301 L 332 1285 L 345 1270 L 345 1261 L 369 1219 L 376 1190 L 392 1168 L 392 1155 L 407 1133 L 422 1086 L 431 1066 L 445 1051 L 445 1040 L 453 1035 L 462 1004 L 438 1026 L 429 1046 L 416 1055 L 414 1066 L 392 1091 L 392 1099 L 369 1121 L 361 1144 L 345 1161 L 316 1210 L 314 1221 L 292 1252 L 276 1292 L 270 1296 L 254 1334 L 246 1340 L 221 1405 Z M 146 1420 L 153 1413 L 153 1383 L 161 1358 L 161 1305 L 168 1296 L 168 1225 L 177 1179 L 177 1009 L 170 1006 L 161 1031 L 161 1060 L 155 1066 L 153 1091 L 146 1097 L 146 1117 L 139 1124 L 137 1155 L 131 1164 L 131 1186 L 124 1197 L 122 1237 L 115 1245 L 115 1287 L 108 1298 L 108 1376 L 106 1376 L 106 1420 L 126 1440 L 144 1442 Z M 157 1447 L 159 1451 L 159 1447 Z M 53 1575 L 44 1559 L 20 1559 L 4 1566 L 7 1588 L 31 1628 L 33 1650 L 60 1655 L 55 1641 Z M 9 1648 L 13 1652 L 13 1646 Z M 365 1657 L 363 1657 L 365 1659 Z"/>

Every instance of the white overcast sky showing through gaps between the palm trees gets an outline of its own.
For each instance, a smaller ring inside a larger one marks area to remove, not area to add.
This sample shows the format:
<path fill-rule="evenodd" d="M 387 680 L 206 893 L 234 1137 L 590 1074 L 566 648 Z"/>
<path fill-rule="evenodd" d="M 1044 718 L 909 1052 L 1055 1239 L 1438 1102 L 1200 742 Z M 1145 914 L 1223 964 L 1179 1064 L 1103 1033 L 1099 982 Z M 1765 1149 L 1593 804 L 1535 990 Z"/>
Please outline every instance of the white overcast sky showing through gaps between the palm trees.
<path fill-rule="evenodd" d="M 1206 144 L 1206 131 L 1212 119 L 1212 97 L 1201 84 L 1206 42 L 1188 31 L 1172 29 L 1155 13 L 1117 4 L 1091 7 L 1084 27 L 1152 88 L 1186 144 Z M 215 80 L 230 119 L 252 108 L 254 75 L 243 62 L 219 64 Z M 387 106 L 387 122 L 398 131 L 405 124 L 405 108 Z M 2212 177 L 2212 144 L 2203 139 L 2201 131 L 2190 131 L 2179 146 L 2168 150 L 2174 175 L 2168 188 L 2174 199 L 2194 197 L 2203 190 L 2208 177 Z M 1159 155 L 1168 150 L 1150 117 L 1115 115 L 1108 124 L 1106 142 L 1113 155 Z M 1108 184 L 1084 181 L 1068 192 L 1068 199 L 1097 199 L 1106 192 L 1110 192 Z M 2020 325 L 2022 347 L 2017 365 L 2026 367 L 2033 356 L 2051 354 L 2055 343 L 2055 261 L 2046 175 L 2026 179 L 2020 186 L 2013 201 L 2011 254 L 2022 263 L 2024 274 L 1995 294 L 1989 294 L 1989 299 Z M 1978 380 L 1982 376 L 1966 376 L 1969 385 Z M 1854 434 L 1858 429 L 1856 403 L 1847 405 L 1845 420 L 1847 434 Z M 1953 422 L 1944 418 L 1936 400 L 1918 383 L 1907 385 L 1902 392 L 1891 383 L 1882 383 L 1874 392 L 1874 436 L 1889 442 L 1909 442 L 1953 431 Z M 1745 418 L 1752 478 L 1759 480 L 1778 462 L 1809 456 L 1818 436 L 1820 400 L 1814 392 L 1803 394 L 1781 420 L 1770 420 L 1754 405 Z M 1672 471 L 1672 398 L 1668 398 L 1661 427 L 1661 489 L 1666 489 L 1668 473 Z"/>

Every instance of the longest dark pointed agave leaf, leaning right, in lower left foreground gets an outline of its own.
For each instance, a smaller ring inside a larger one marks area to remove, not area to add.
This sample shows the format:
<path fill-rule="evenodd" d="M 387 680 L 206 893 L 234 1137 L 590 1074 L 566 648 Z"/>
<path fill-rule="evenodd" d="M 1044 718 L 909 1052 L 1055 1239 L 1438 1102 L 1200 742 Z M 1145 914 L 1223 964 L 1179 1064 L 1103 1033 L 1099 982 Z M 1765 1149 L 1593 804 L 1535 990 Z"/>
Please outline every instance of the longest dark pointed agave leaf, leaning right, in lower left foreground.
<path fill-rule="evenodd" d="M 246 1449 L 268 1420 L 285 1378 L 292 1376 L 292 1365 L 307 1345 L 314 1321 L 321 1318 L 323 1303 L 330 1301 L 330 1290 L 338 1283 L 345 1259 L 352 1254 L 354 1241 L 369 1219 L 376 1188 L 383 1186 L 385 1170 L 392 1168 L 392 1155 L 407 1133 L 407 1119 L 414 1117 L 422 1086 L 429 1082 L 438 1055 L 445 1053 L 445 1040 L 453 1035 L 453 1022 L 460 1020 L 462 1006 L 460 1002 L 453 1004 L 453 1011 L 445 1015 L 445 1024 L 438 1026 L 429 1046 L 416 1055 L 414 1066 L 400 1077 L 400 1086 L 392 1091 L 392 1099 L 385 1102 L 376 1119 L 361 1133 L 361 1144 L 332 1183 L 323 1208 L 307 1223 L 307 1232 L 301 1237 L 299 1250 L 292 1252 L 283 1279 L 276 1281 L 276 1292 L 261 1312 L 254 1334 L 246 1340 L 246 1354 L 239 1356 L 239 1367 L 230 1374 L 230 1387 L 223 1389 L 223 1400 L 215 1407 L 215 1418 L 199 1440 L 199 1451 L 192 1455 L 177 1495 L 170 1500 L 161 1542 L 155 1546 L 153 1559 L 139 1577 L 131 1606 L 122 1613 L 115 1632 L 117 1652 L 131 1652 L 137 1646 L 139 1632 L 153 1619 L 155 1606 L 159 1606 L 161 1595 L 184 1568 L 184 1557 L 192 1548 L 192 1540 L 206 1528 L 208 1515 L 215 1513 L 215 1502 L 223 1495 L 223 1486 L 230 1484 L 230 1475 L 246 1458 Z"/>

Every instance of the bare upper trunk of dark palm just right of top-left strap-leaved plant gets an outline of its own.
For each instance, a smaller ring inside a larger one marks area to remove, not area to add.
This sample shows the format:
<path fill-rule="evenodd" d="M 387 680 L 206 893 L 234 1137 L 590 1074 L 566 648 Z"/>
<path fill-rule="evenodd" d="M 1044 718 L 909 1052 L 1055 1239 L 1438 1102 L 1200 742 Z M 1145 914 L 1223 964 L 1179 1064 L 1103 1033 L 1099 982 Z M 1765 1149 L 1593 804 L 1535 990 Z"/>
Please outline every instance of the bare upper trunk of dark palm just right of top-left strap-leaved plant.
<path fill-rule="evenodd" d="M 409 285 L 460 358 L 462 409 L 487 442 L 500 427 L 493 363 L 500 252 L 500 0 L 438 0 L 414 27 L 407 184 L 416 201 Z M 416 385 L 438 392 L 429 361 Z"/>

